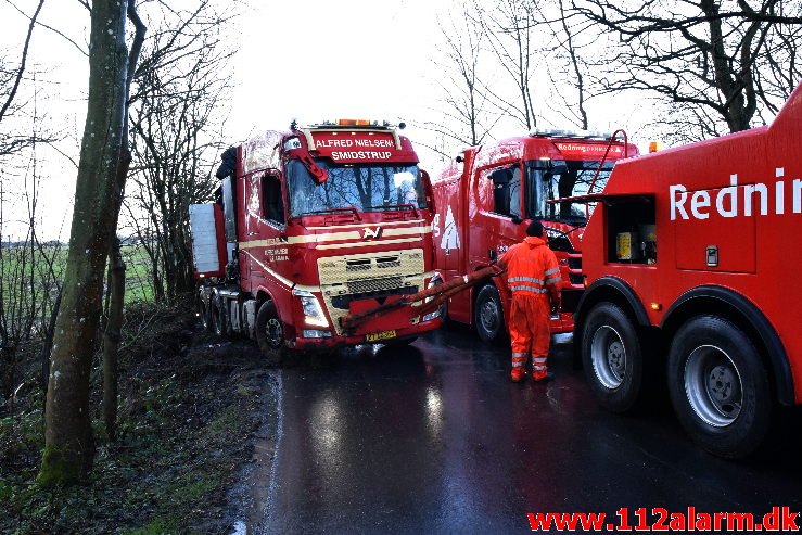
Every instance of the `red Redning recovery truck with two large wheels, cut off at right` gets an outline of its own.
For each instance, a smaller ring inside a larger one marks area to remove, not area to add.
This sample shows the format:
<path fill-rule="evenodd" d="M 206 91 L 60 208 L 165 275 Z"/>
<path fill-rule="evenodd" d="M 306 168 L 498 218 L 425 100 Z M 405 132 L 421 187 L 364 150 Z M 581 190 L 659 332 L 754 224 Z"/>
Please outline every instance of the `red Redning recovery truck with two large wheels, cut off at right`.
<path fill-rule="evenodd" d="M 621 162 L 576 201 L 597 206 L 574 315 L 591 390 L 626 411 L 664 379 L 699 445 L 752 453 L 802 403 L 802 85 L 771 126 Z"/>

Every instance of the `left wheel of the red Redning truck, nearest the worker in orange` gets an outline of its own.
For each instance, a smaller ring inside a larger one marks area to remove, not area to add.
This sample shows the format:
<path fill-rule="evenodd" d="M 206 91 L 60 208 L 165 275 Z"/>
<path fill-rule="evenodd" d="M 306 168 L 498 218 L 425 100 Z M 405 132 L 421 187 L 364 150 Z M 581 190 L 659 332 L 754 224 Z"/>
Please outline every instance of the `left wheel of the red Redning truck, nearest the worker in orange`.
<path fill-rule="evenodd" d="M 590 390 L 613 412 L 638 400 L 644 381 L 640 340 L 624 311 L 612 303 L 596 305 L 582 331 L 582 364 Z"/>

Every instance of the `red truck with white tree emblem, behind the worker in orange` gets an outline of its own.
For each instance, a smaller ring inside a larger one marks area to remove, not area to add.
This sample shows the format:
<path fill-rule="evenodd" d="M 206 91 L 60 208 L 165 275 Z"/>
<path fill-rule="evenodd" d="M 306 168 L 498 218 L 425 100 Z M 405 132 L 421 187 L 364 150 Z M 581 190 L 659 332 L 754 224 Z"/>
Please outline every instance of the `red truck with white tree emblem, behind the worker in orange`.
<path fill-rule="evenodd" d="M 615 162 L 637 153 L 635 145 L 612 141 L 610 135 L 564 130 L 535 130 L 466 149 L 432 184 L 437 282 L 487 266 L 523 240 L 526 225 L 537 218 L 560 263 L 563 307 L 572 309 L 584 289 L 586 206 L 549 201 L 588 193 L 591 186 L 601 191 Z M 474 326 L 482 340 L 495 341 L 506 332 L 509 300 L 506 284 L 495 278 L 454 296 L 447 316 Z M 569 313 L 551 319 L 552 333 L 572 329 Z"/>

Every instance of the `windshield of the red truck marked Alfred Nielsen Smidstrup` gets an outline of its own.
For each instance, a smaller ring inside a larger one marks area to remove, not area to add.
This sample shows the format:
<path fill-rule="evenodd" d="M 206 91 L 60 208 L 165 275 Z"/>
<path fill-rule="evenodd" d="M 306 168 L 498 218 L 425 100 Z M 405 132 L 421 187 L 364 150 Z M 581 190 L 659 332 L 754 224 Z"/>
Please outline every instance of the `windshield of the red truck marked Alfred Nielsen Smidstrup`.
<path fill-rule="evenodd" d="M 329 158 L 317 158 L 315 163 L 329 174 L 322 183 L 315 180 L 300 160 L 291 160 L 285 165 L 292 217 L 345 207 L 374 212 L 427 206 L 416 164 L 341 165 Z"/>

